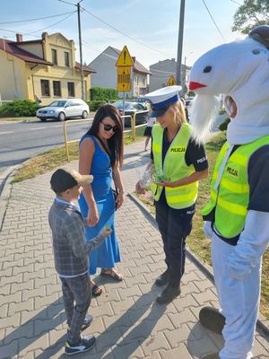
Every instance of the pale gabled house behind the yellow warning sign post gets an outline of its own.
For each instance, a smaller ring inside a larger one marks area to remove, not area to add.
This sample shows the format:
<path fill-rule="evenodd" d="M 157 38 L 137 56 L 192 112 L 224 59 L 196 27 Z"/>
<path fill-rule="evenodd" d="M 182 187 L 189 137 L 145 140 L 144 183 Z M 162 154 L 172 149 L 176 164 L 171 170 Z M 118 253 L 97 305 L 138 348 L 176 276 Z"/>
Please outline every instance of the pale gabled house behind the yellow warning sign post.
<path fill-rule="evenodd" d="M 100 86 L 117 90 L 117 67 L 116 62 L 121 50 L 108 46 L 89 66 L 96 70 L 96 74 L 91 75 L 91 86 Z M 128 98 L 139 97 L 148 92 L 148 76 L 151 72 L 140 62 L 132 57 L 134 66 L 132 70 L 131 91 L 126 92 Z M 123 92 L 119 92 L 121 96 Z"/>

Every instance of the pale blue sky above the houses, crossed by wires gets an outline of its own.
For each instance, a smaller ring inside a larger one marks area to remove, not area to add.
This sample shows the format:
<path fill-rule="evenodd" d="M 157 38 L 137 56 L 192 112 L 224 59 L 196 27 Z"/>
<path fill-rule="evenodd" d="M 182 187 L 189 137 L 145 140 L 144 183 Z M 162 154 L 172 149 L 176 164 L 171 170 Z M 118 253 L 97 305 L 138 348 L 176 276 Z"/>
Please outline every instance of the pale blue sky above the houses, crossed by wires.
<path fill-rule="evenodd" d="M 40 39 L 43 31 L 61 32 L 67 39 L 74 39 L 79 61 L 77 7 L 72 4 L 0 0 L 0 38 L 15 40 L 15 33 L 20 32 L 23 40 L 30 40 Z M 192 66 L 209 49 L 242 38 L 239 32 L 231 31 L 239 4 L 243 0 L 186 0 L 183 64 L 186 61 Z M 82 0 L 81 5 L 85 9 L 81 13 L 83 63 L 89 65 L 108 46 L 121 50 L 125 45 L 130 55 L 147 68 L 167 58 L 177 59 L 180 0 Z M 63 15 L 31 21 L 58 14 Z"/>

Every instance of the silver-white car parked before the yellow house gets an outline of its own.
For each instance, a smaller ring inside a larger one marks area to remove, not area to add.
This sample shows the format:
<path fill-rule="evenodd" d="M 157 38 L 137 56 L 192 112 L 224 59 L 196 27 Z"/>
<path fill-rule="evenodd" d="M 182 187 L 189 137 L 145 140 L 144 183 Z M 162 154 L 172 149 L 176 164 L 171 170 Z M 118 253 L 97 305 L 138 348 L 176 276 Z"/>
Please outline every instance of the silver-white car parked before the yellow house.
<path fill-rule="evenodd" d="M 87 118 L 90 113 L 89 106 L 81 99 L 61 99 L 50 103 L 48 107 L 37 110 L 36 116 L 41 121 L 48 118 L 57 118 L 59 121 L 65 121 L 66 118 Z"/>

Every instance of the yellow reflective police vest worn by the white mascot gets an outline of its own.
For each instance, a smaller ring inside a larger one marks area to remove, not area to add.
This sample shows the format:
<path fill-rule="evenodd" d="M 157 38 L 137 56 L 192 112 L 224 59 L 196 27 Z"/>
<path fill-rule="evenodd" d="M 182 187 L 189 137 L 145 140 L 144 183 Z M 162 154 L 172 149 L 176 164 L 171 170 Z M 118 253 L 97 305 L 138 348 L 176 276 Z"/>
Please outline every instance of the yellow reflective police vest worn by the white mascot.
<path fill-rule="evenodd" d="M 204 220 L 214 221 L 216 230 L 226 239 L 239 236 L 244 229 L 249 203 L 247 164 L 250 156 L 265 144 L 269 144 L 269 136 L 261 137 L 250 144 L 240 145 L 230 155 L 219 186 L 215 188 L 221 163 L 230 144 L 226 142 L 221 148 L 213 172 L 210 202 L 201 213 Z"/>

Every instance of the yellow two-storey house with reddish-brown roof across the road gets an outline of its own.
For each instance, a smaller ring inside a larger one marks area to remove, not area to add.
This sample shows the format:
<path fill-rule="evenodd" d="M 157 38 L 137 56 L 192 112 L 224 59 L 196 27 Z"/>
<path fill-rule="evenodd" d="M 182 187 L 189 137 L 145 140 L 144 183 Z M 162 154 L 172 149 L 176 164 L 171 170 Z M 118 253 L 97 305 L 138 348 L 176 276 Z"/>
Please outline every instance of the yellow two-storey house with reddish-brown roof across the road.
<path fill-rule="evenodd" d="M 0 39 L 0 95 L 2 101 L 36 100 L 47 105 L 57 98 L 82 97 L 81 66 L 75 61 L 74 40 L 61 33 L 41 39 Z M 85 98 L 90 98 L 91 74 L 83 66 Z"/>

